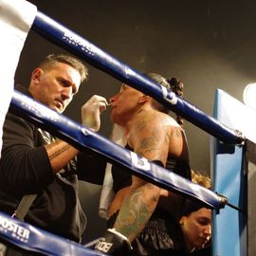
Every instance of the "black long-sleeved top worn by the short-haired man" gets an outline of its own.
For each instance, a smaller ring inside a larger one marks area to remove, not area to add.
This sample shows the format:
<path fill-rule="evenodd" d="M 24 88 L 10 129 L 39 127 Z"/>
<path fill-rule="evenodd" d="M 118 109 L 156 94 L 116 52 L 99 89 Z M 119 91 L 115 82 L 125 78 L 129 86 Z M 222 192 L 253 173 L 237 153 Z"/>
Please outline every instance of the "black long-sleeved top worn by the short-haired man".
<path fill-rule="evenodd" d="M 18 89 L 28 94 L 23 87 Z M 0 159 L 1 211 L 12 214 L 25 194 L 36 193 L 25 221 L 81 241 L 86 217 L 78 198 L 76 159 L 54 175 L 44 146 L 52 140 L 50 134 L 11 111 L 4 123 Z"/>

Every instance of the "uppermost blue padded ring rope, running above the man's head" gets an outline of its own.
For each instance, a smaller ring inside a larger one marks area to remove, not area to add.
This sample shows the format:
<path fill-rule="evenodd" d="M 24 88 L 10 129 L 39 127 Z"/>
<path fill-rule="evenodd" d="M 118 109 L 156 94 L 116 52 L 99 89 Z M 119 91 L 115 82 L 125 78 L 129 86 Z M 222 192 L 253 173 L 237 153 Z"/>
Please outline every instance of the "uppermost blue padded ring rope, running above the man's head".
<path fill-rule="evenodd" d="M 152 96 L 155 100 L 169 107 L 174 113 L 189 120 L 213 137 L 229 144 L 241 144 L 244 141 L 240 132 L 232 130 L 217 119 L 206 115 L 188 101 L 176 97 L 171 90 L 137 73 L 136 70 L 126 64 L 122 64 L 119 60 L 52 20 L 44 13 L 38 11 L 32 29 L 50 42 L 62 46 L 87 63 L 119 79 L 119 81 Z"/>

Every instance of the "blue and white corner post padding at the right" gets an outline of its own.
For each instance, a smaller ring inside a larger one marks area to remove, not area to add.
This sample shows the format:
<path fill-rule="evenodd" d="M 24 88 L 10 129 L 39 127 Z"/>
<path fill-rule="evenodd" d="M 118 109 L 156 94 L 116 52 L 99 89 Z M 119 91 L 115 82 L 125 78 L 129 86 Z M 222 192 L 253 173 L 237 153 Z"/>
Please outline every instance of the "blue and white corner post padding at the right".
<path fill-rule="evenodd" d="M 242 110 L 242 111 L 241 111 Z M 247 117 L 247 108 L 242 102 L 232 98 L 223 90 L 217 90 L 214 101 L 214 117 L 229 127 L 238 127 L 241 122 L 255 128 Z M 246 131 L 244 130 L 243 133 Z M 229 202 L 246 211 L 247 178 L 243 172 L 244 146 L 227 145 L 214 139 L 213 150 L 213 190 L 225 194 Z M 254 198 L 255 199 L 255 198 Z M 213 210 L 212 255 L 247 255 L 247 214 L 229 206 Z"/>

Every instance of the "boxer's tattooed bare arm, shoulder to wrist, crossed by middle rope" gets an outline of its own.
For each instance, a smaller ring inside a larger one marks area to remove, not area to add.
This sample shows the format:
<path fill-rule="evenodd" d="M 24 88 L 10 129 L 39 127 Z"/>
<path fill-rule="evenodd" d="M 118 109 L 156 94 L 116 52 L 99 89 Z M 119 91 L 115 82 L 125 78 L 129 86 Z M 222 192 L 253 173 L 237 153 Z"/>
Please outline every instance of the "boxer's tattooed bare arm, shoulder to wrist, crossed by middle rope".
<path fill-rule="evenodd" d="M 157 115 L 146 115 L 137 119 L 129 140 L 134 151 L 149 160 L 166 164 L 169 144 L 170 125 Z M 128 143 L 129 143 L 128 141 Z M 158 203 L 160 189 L 137 177 L 125 197 L 114 228 L 132 242 L 144 229 Z"/>

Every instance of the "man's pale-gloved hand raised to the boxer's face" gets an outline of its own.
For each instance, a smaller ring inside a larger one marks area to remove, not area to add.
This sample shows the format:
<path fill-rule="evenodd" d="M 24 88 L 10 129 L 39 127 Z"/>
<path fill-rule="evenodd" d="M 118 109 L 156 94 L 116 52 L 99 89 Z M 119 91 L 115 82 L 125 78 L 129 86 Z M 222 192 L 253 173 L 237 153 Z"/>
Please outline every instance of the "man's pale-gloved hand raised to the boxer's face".
<path fill-rule="evenodd" d="M 101 112 L 106 110 L 108 105 L 105 98 L 94 95 L 82 106 L 82 125 L 87 126 L 94 132 L 98 132 L 101 127 Z"/>

